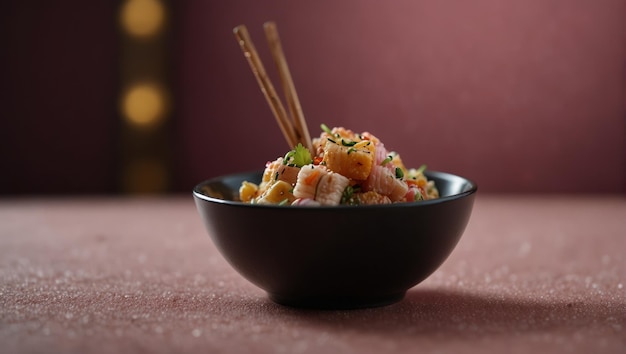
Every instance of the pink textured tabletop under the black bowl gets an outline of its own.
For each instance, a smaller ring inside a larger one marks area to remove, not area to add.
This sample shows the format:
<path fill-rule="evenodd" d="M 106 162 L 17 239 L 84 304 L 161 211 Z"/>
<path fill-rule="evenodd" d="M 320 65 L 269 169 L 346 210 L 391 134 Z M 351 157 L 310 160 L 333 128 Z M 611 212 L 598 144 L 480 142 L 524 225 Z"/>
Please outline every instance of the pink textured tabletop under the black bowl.
<path fill-rule="evenodd" d="M 477 197 L 397 304 L 282 307 L 241 278 L 191 196 L 0 202 L 2 353 L 624 353 L 626 200 Z"/>

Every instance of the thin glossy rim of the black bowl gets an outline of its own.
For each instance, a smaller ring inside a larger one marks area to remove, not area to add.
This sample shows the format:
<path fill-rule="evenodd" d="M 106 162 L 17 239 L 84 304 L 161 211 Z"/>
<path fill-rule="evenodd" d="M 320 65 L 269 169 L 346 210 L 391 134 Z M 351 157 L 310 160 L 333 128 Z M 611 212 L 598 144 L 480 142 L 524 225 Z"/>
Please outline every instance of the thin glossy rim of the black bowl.
<path fill-rule="evenodd" d="M 447 196 L 443 196 L 443 197 L 439 197 L 437 199 L 430 199 L 430 200 L 419 200 L 419 201 L 413 201 L 413 202 L 402 202 L 402 203 L 391 203 L 391 204 L 371 204 L 371 205 L 320 205 L 320 206 L 311 206 L 311 205 L 299 205 L 299 206 L 291 206 L 291 205 L 278 205 L 278 204 L 250 204 L 250 203 L 244 203 L 241 201 L 236 201 L 236 200 L 227 200 L 227 199 L 220 199 L 220 198 L 215 198 L 215 197 L 211 197 L 208 196 L 204 193 L 201 192 L 201 188 L 207 184 L 210 183 L 215 183 L 221 180 L 224 180 L 226 178 L 233 178 L 233 177 L 237 177 L 237 176 L 245 176 L 245 175 L 252 175 L 252 174 L 260 174 L 263 171 L 261 170 L 254 170 L 254 171 L 248 171 L 248 172 L 239 172 L 239 173 L 232 173 L 232 174 L 227 174 L 227 175 L 221 175 L 221 176 L 217 176 L 217 177 L 213 177 L 213 178 L 209 178 L 206 179 L 198 184 L 196 184 L 196 186 L 193 188 L 192 194 L 195 198 L 203 200 L 203 201 L 207 201 L 210 203 L 216 203 L 216 204 L 225 204 L 225 205 L 231 205 L 231 206 L 238 206 L 238 207 L 244 207 L 244 208 L 255 208 L 255 209 L 283 209 L 283 210 L 302 210 L 302 209 L 315 209 L 315 210 L 337 210 L 337 209 L 372 209 L 372 208 L 406 208 L 406 207 L 416 207 L 416 206 L 427 206 L 427 205 L 433 205 L 433 204 L 440 204 L 440 203 L 445 203 L 445 202 L 449 202 L 449 201 L 453 201 L 453 200 L 457 200 L 457 199 L 461 199 L 461 198 L 465 198 L 471 194 L 474 194 L 478 191 L 478 184 L 476 184 L 473 180 L 470 180 L 466 177 L 462 177 L 459 175 L 455 175 L 449 172 L 442 172 L 442 171 L 433 171 L 433 170 L 425 170 L 424 171 L 424 175 L 428 178 L 439 178 L 439 179 L 447 179 L 447 180 L 458 180 L 466 185 L 469 186 L 469 188 L 467 188 L 467 190 L 461 192 L 461 193 L 457 193 L 457 194 L 452 194 L 452 195 L 447 195 Z"/>

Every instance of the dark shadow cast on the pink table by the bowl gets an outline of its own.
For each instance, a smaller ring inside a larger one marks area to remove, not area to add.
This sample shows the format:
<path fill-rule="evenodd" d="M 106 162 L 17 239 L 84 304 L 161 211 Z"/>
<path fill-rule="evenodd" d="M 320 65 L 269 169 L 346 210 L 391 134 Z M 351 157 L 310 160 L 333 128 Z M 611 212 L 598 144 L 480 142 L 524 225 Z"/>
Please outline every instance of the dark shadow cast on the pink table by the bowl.
<path fill-rule="evenodd" d="M 269 302 L 269 300 L 268 300 Z M 385 335 L 475 336 L 558 329 L 626 326 L 624 305 L 609 302 L 561 302 L 507 298 L 438 289 L 412 289 L 404 300 L 378 308 L 320 311 L 265 306 L 274 315 L 294 317 L 328 331 L 350 329 Z"/>

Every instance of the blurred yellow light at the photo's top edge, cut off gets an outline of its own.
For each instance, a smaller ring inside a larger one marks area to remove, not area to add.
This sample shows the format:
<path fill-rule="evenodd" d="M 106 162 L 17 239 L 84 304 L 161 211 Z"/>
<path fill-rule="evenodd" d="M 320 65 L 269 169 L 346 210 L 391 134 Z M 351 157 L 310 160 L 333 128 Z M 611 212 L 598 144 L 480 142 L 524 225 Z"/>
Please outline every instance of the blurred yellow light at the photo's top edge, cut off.
<path fill-rule="evenodd" d="M 158 0 L 127 0 L 120 15 L 124 29 L 136 37 L 157 34 L 165 22 L 165 10 Z"/>

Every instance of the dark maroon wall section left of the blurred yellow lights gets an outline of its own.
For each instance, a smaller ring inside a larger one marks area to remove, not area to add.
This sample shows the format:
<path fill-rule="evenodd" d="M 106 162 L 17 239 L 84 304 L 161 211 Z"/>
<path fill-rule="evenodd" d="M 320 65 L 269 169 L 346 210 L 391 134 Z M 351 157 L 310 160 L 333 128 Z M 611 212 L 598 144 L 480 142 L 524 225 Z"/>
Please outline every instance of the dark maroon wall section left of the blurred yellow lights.
<path fill-rule="evenodd" d="M 0 3 L 0 194 L 116 190 L 116 11 Z"/>

